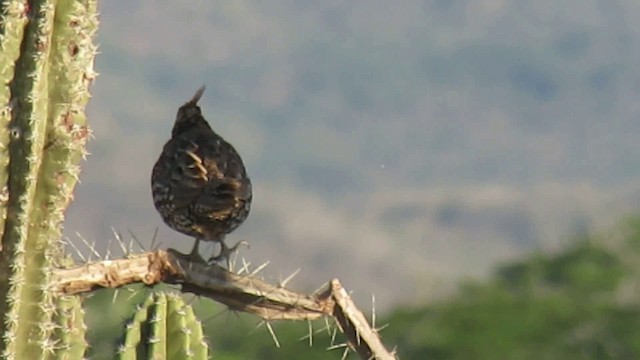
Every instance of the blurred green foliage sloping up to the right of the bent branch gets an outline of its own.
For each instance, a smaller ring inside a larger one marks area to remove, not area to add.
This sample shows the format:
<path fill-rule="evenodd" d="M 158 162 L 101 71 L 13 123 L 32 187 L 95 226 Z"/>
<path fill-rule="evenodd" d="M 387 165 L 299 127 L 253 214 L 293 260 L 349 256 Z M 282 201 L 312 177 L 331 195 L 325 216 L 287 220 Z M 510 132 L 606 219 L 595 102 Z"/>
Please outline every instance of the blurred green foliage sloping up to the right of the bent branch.
<path fill-rule="evenodd" d="M 640 302 L 620 294 L 639 280 L 625 258 L 640 254 L 640 221 L 621 225 L 618 243 L 580 239 L 558 254 L 536 254 L 464 284 L 445 301 L 398 309 L 387 343 L 402 359 L 634 359 L 640 357 Z"/>

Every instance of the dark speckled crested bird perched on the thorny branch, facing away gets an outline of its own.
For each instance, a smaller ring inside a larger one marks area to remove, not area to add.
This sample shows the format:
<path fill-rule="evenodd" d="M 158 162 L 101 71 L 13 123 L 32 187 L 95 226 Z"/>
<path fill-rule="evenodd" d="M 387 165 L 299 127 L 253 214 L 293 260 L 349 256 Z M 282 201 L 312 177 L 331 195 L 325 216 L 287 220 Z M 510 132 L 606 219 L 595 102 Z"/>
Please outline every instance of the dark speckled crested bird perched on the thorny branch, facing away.
<path fill-rule="evenodd" d="M 229 247 L 225 236 L 249 216 L 251 180 L 236 149 L 218 135 L 202 115 L 198 101 L 205 87 L 178 109 L 171 138 L 153 166 L 151 192 L 162 220 L 172 229 L 195 238 L 192 260 L 200 257 L 200 241 L 220 244 L 220 253 L 207 263 L 229 258 L 240 241 Z"/>

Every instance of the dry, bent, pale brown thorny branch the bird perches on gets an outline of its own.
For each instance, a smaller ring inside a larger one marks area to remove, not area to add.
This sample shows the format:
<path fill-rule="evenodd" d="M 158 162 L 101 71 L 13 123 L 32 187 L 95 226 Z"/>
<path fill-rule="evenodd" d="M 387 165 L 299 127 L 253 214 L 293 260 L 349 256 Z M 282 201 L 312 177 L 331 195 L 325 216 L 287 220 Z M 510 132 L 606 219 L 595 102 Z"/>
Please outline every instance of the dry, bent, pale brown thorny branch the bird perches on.
<path fill-rule="evenodd" d="M 228 272 L 217 265 L 192 262 L 171 250 L 58 269 L 52 277 L 54 291 L 67 295 L 140 282 L 178 284 L 185 292 L 208 297 L 232 310 L 265 320 L 314 320 L 331 316 L 347 337 L 349 346 L 362 359 L 396 359 L 337 279 L 331 280 L 318 294 L 306 295 L 250 275 Z"/>

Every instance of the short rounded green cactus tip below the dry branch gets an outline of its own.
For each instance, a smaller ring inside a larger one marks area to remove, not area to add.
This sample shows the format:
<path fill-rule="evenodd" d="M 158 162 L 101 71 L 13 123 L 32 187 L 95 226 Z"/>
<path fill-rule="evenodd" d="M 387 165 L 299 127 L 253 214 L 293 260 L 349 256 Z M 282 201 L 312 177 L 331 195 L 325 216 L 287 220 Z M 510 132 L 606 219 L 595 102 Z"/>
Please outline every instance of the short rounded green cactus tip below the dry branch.
<path fill-rule="evenodd" d="M 207 359 L 202 324 L 176 296 L 152 293 L 127 325 L 119 356 L 135 359 Z"/>

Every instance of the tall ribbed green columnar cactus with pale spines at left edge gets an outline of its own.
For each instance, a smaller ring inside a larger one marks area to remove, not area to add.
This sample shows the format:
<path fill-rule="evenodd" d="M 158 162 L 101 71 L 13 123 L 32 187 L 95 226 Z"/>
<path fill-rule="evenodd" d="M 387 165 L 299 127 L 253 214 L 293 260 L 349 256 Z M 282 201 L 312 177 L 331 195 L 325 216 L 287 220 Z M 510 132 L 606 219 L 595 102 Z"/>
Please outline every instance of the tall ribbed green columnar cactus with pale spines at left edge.
<path fill-rule="evenodd" d="M 84 108 L 96 75 L 96 29 L 96 0 L 0 4 L 0 352 L 4 359 L 55 358 L 62 350 L 81 351 L 84 343 L 81 338 L 82 344 L 54 338 L 59 329 L 56 321 L 68 315 L 64 324 L 78 326 L 82 313 L 77 301 L 55 299 L 48 280 L 62 258 L 63 213 L 89 135 Z"/>

